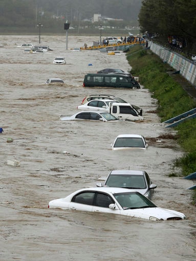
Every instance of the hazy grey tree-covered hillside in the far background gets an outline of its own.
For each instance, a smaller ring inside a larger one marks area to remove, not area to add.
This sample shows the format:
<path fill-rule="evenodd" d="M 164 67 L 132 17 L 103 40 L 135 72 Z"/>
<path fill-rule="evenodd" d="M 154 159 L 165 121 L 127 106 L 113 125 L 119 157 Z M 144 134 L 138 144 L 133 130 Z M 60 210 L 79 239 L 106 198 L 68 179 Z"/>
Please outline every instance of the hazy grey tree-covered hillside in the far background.
<path fill-rule="evenodd" d="M 58 20 L 72 25 L 90 20 L 96 13 L 137 23 L 142 0 L 1 0 L 0 24 L 3 27 L 31 27 L 40 21 L 53 27 Z M 114 23 L 114 21 L 113 21 Z"/>

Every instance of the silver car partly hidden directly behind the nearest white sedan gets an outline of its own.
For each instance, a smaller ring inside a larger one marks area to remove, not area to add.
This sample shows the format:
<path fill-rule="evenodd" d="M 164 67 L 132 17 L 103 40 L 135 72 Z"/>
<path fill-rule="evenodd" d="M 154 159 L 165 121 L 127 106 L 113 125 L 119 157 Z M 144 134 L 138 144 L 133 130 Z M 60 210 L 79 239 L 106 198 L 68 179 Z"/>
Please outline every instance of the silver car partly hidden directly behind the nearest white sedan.
<path fill-rule="evenodd" d="M 97 183 L 97 187 L 121 187 L 134 189 L 151 199 L 157 185 L 153 184 L 148 173 L 143 170 L 112 170 L 105 182 Z"/>

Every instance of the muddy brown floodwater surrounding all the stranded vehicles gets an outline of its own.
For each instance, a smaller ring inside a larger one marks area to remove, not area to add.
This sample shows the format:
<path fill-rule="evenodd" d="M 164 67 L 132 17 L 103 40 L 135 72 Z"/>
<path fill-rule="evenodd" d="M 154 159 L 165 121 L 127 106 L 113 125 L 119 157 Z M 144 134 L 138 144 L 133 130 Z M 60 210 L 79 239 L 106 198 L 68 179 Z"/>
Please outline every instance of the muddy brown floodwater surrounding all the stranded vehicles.
<path fill-rule="evenodd" d="M 99 37 L 97 36 L 97 39 Z M 37 36 L 0 36 L 0 260 L 195 260 L 195 207 L 192 181 L 168 177 L 183 151 L 164 127 L 148 90 L 83 88 L 84 74 L 103 68 L 130 70 L 125 54 L 73 52 L 96 37 L 41 36 L 53 51 L 24 53 L 18 45 Z M 3 47 L 2 47 L 3 46 Z M 65 66 L 53 65 L 55 56 Z M 89 64 L 92 64 L 90 66 Z M 60 77 L 65 86 L 48 86 Z M 144 122 L 60 121 L 86 95 L 113 94 L 143 108 Z M 141 134 L 145 151 L 111 151 L 118 134 Z M 7 142 L 12 138 L 13 142 Z M 7 165 L 19 160 L 20 166 Z M 153 201 L 186 214 L 183 221 L 153 222 L 126 216 L 48 209 L 48 202 L 96 186 L 112 169 L 146 170 L 157 184 Z"/>

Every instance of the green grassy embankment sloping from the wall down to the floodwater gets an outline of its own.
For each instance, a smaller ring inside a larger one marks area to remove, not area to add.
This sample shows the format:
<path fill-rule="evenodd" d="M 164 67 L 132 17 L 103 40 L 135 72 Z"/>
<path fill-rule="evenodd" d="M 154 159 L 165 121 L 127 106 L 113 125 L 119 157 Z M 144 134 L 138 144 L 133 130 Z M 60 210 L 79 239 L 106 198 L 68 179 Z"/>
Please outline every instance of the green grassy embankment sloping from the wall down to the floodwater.
<path fill-rule="evenodd" d="M 140 83 L 158 100 L 157 114 L 161 121 L 168 120 L 196 107 L 196 100 L 183 89 L 190 86 L 180 74 L 150 50 L 134 46 L 127 52 L 127 60 L 132 66 L 132 74 L 140 78 Z M 181 168 L 181 173 L 170 176 L 188 176 L 196 171 L 196 119 L 187 120 L 175 127 L 176 139 L 184 151 L 182 158 L 176 159 L 173 166 Z M 196 204 L 196 190 L 193 191 L 193 204 Z"/>

